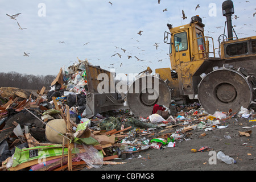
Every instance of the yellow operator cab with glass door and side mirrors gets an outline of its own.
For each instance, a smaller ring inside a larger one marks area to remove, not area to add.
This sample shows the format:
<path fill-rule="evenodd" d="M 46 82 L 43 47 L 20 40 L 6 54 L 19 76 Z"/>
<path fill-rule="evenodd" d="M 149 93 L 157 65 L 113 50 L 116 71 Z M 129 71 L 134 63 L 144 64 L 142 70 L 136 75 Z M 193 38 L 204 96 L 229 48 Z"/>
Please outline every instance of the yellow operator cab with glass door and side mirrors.
<path fill-rule="evenodd" d="M 184 26 L 172 27 L 172 24 L 167 26 L 170 32 L 164 33 L 164 43 L 170 44 L 172 68 L 181 63 L 208 58 L 209 41 L 208 37 L 204 36 L 204 24 L 199 15 L 193 16 L 191 22 Z"/>

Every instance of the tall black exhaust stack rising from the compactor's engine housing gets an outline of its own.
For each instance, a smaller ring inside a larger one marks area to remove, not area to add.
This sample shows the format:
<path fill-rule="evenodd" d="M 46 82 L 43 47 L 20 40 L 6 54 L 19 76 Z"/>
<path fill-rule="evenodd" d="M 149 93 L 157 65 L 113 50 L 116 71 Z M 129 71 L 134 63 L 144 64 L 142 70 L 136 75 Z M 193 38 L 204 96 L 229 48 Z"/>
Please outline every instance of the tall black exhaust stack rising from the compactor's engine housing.
<path fill-rule="evenodd" d="M 233 40 L 233 26 L 231 16 L 234 14 L 234 4 L 231 0 L 227 0 L 222 3 L 222 14 L 223 16 L 226 16 L 228 38 L 229 40 Z"/>

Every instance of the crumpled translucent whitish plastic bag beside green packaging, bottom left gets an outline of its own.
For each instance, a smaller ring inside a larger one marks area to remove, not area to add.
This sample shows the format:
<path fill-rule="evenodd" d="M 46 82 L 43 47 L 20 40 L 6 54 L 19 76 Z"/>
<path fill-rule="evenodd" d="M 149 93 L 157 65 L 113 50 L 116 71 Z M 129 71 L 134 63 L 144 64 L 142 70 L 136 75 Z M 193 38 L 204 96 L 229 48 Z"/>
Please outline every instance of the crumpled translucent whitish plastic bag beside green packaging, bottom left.
<path fill-rule="evenodd" d="M 77 144 L 75 143 L 75 147 Z M 77 154 L 80 159 L 84 160 L 84 162 L 89 167 L 100 168 L 103 165 L 103 155 L 92 145 L 82 144 L 85 149 L 85 152 Z"/>

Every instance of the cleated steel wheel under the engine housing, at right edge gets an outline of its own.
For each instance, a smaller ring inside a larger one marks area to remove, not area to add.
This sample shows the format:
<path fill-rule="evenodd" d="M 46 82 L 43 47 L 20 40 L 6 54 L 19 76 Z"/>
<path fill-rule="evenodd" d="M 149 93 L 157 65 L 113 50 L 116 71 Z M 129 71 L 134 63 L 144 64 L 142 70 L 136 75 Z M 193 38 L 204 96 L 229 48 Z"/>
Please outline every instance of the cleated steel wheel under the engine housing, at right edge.
<path fill-rule="evenodd" d="M 238 112 L 254 103 L 254 78 L 232 68 L 219 68 L 203 77 L 198 88 L 201 106 L 215 111 Z"/>

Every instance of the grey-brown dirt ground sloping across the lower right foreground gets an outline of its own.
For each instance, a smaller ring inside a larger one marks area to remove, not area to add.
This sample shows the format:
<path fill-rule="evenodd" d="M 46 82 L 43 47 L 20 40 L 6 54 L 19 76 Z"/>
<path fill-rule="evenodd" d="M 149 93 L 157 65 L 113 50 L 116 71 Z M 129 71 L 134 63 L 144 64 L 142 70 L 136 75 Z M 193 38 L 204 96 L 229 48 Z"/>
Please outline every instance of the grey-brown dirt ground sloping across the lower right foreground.
<path fill-rule="evenodd" d="M 228 127 L 204 131 L 187 131 L 190 140 L 176 142 L 175 147 L 163 149 L 148 148 L 130 154 L 130 159 L 115 159 L 126 164 L 104 165 L 101 168 L 83 169 L 82 171 L 254 171 L 256 169 L 255 134 L 256 122 L 235 116 L 222 121 L 219 126 Z M 243 127 L 250 127 L 243 129 Z M 176 128 L 171 131 L 175 132 Z M 241 136 L 238 131 L 251 130 L 250 137 Z M 170 131 L 168 131 L 170 132 Z M 201 134 L 205 133 L 204 137 Z M 227 139 L 224 136 L 228 135 Z M 207 146 L 209 151 L 191 152 Z M 211 151 L 211 152 L 210 152 Z M 226 164 L 216 158 L 218 151 L 231 156 L 236 164 Z M 214 155 L 215 154 L 215 155 Z M 210 164 L 213 163 L 213 164 Z"/>

